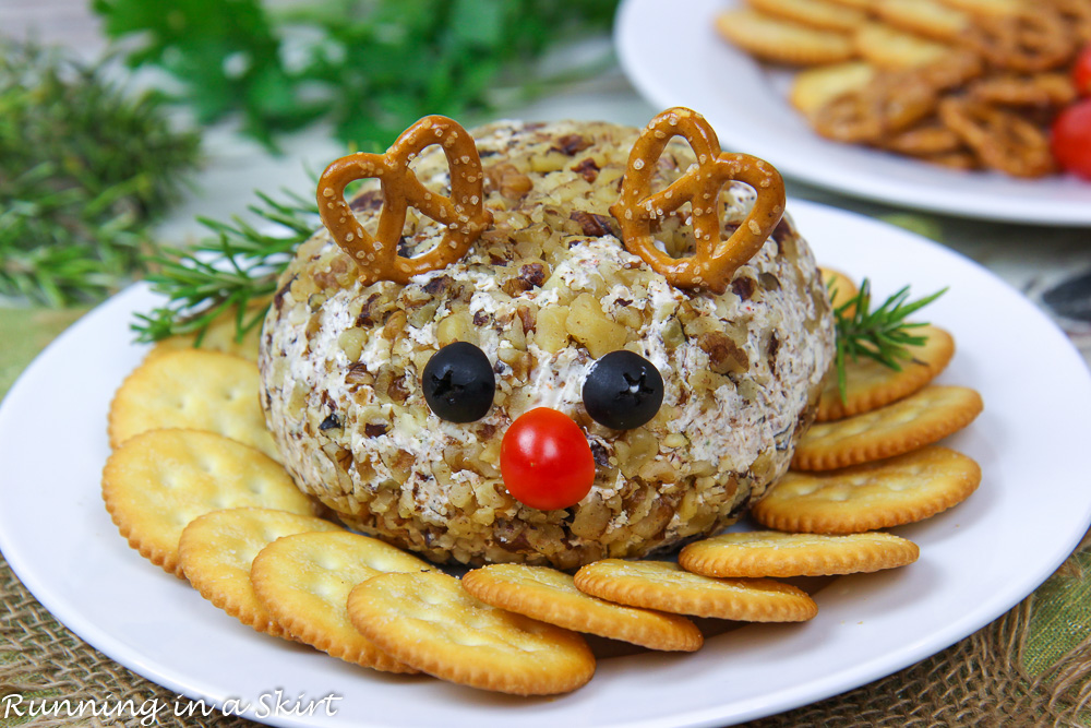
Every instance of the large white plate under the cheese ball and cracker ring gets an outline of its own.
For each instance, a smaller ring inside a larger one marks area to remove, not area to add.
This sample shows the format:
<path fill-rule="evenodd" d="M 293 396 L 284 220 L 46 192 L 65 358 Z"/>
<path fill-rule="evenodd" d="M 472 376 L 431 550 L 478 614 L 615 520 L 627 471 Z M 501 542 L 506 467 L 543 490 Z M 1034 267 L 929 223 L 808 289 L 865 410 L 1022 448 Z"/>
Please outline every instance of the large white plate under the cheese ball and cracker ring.
<path fill-rule="evenodd" d="M 252 632 L 141 559 L 99 498 L 109 402 L 143 354 L 128 326 L 155 301 L 144 287 L 62 335 L 0 408 L 0 548 L 60 621 L 173 691 L 217 703 L 256 704 L 277 689 L 293 700 L 343 696 L 334 717 L 267 719 L 275 725 L 722 726 L 899 670 L 1002 614 L 1075 548 L 1091 521 L 1081 485 L 1091 377 L 1057 329 L 978 265 L 859 216 L 795 201 L 789 208 L 819 261 L 871 276 L 879 294 L 949 285 L 927 309 L 959 346 L 942 381 L 974 386 L 985 401 L 948 443 L 981 463 L 980 490 L 898 528 L 920 544 L 921 560 L 838 578 L 817 594 L 820 611 L 806 624 L 746 626 L 688 655 L 601 660 L 587 687 L 553 700 L 383 677 Z"/>

